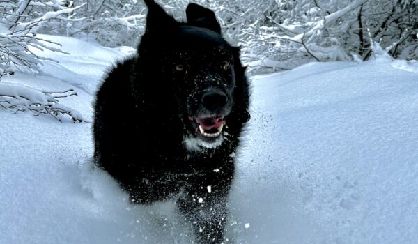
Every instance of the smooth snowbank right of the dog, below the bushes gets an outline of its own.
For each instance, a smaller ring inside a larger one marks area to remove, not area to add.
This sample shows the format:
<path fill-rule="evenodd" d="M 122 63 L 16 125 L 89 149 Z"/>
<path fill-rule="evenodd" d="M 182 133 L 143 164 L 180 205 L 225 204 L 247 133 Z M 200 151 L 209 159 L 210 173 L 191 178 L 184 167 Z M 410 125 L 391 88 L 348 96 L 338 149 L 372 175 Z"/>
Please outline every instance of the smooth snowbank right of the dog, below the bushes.
<path fill-rule="evenodd" d="M 394 63 L 309 63 L 253 80 L 247 186 L 233 196 L 247 199 L 238 215 L 257 206 L 259 243 L 417 242 L 418 76 Z"/>

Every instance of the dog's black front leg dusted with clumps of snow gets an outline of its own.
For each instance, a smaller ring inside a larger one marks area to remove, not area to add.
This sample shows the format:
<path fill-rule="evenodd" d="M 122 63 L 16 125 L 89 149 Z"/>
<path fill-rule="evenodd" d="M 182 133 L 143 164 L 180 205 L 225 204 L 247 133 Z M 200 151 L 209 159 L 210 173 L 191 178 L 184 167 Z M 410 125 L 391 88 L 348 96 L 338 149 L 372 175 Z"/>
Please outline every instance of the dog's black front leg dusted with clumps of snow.
<path fill-rule="evenodd" d="M 196 243 L 224 243 L 231 178 L 196 179 L 178 199 L 180 213 L 192 227 Z"/>

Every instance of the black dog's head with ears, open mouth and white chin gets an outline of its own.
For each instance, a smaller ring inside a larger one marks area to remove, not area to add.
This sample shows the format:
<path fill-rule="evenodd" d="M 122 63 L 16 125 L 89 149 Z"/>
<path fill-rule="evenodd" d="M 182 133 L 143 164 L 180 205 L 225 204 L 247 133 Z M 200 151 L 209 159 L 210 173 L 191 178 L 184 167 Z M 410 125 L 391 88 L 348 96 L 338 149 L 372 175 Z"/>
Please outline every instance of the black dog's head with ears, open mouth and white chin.
<path fill-rule="evenodd" d="M 187 23 L 182 23 L 154 1 L 146 4 L 146 32 L 139 44 L 143 66 L 161 79 L 155 80 L 161 89 L 175 96 L 187 148 L 215 148 L 231 135 L 228 130 L 239 133 L 248 118 L 248 84 L 239 48 L 222 38 L 208 8 L 190 3 Z"/>

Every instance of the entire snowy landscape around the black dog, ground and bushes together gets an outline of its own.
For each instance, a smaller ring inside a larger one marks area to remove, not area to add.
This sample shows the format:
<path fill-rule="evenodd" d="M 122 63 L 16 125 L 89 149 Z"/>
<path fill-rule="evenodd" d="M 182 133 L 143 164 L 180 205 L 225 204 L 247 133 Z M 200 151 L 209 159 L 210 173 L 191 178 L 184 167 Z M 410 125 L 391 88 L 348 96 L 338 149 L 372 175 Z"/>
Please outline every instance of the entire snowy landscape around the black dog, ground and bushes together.
<path fill-rule="evenodd" d="M 187 0 L 157 1 L 185 20 Z M 193 1 L 252 86 L 229 243 L 418 243 L 418 0 Z M 93 167 L 95 91 L 145 17 L 0 0 L 0 243 L 190 243 L 175 203 L 134 206 Z"/>

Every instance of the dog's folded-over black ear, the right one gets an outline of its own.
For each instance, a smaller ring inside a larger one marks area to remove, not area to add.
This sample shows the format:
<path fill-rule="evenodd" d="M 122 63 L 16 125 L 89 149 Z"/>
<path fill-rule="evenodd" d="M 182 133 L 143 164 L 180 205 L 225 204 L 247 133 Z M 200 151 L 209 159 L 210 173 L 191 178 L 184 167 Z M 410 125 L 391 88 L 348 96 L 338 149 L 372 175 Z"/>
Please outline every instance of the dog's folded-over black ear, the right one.
<path fill-rule="evenodd" d="M 203 27 L 221 33 L 221 25 L 217 22 L 215 13 L 196 3 L 190 3 L 186 8 L 187 24 Z"/>

